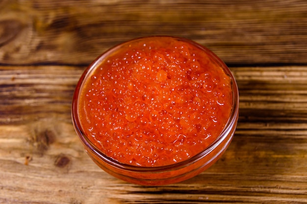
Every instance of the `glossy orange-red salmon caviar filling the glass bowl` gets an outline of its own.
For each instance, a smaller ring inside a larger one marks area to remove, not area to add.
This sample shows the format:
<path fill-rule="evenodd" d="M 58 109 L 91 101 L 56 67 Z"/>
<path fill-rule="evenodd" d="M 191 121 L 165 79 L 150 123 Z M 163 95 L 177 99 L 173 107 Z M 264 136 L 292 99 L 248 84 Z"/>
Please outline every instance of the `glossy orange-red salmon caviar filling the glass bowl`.
<path fill-rule="evenodd" d="M 233 101 L 230 76 L 211 57 L 175 38 L 121 46 L 80 92 L 84 133 L 107 157 L 134 166 L 195 156 L 221 134 Z"/>

